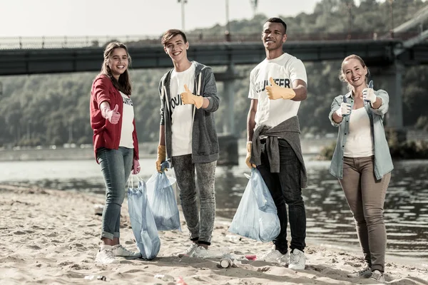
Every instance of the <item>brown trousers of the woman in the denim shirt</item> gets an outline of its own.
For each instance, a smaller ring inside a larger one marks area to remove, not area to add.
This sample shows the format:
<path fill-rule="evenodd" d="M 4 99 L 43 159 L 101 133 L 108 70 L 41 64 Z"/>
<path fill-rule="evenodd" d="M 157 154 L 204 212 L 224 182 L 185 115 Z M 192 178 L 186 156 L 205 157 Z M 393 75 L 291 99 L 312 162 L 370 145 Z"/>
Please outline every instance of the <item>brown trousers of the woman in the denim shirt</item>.
<path fill-rule="evenodd" d="M 384 272 L 387 230 L 383 207 L 391 173 L 376 180 L 373 167 L 374 156 L 344 157 L 339 181 L 355 219 L 365 262 L 372 271 Z"/>

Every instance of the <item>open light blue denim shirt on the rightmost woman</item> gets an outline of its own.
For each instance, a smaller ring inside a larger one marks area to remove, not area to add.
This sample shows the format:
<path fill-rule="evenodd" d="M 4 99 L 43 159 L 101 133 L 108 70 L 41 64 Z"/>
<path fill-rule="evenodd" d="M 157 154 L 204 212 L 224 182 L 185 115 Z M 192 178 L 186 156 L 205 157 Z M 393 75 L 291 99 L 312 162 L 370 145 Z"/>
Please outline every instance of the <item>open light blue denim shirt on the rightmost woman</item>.
<path fill-rule="evenodd" d="M 389 147 L 387 138 L 385 137 L 385 131 L 383 126 L 383 117 L 388 111 L 389 96 L 385 90 L 375 90 L 374 94 L 382 99 L 382 105 L 379 109 L 373 109 L 370 103 L 365 104 L 365 110 L 370 118 L 370 128 L 372 130 L 372 140 L 374 146 L 374 175 L 376 179 L 381 179 L 385 174 L 391 172 L 394 169 L 392 165 L 391 154 L 389 153 Z M 337 135 L 337 143 L 335 153 L 332 157 L 330 164 L 330 173 L 337 178 L 343 178 L 343 152 L 345 150 L 345 144 L 347 134 L 350 131 L 350 115 L 343 118 L 342 122 L 336 123 L 332 115 L 340 108 L 340 104 L 343 102 L 343 98 L 346 98 L 347 103 L 351 104 L 351 108 L 354 106 L 354 98 L 351 96 L 351 92 L 346 95 L 339 95 L 333 100 L 330 114 L 330 122 L 335 127 L 339 127 L 339 135 Z"/>

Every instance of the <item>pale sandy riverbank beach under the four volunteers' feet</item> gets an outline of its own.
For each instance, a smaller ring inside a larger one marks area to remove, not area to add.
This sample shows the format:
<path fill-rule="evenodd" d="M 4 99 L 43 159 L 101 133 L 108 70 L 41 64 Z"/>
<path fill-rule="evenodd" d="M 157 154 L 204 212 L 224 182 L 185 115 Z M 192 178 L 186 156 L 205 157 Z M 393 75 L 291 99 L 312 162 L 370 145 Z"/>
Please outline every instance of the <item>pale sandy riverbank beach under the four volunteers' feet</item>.
<path fill-rule="evenodd" d="M 0 284 L 376 284 L 347 278 L 362 265 L 358 252 L 310 242 L 304 271 L 257 259 L 237 260 L 223 269 L 218 258 L 179 258 L 188 247 L 183 216 L 183 232 L 159 232 L 162 244 L 156 259 L 98 265 L 94 259 L 101 216 L 94 214 L 94 204 L 103 204 L 102 196 L 6 185 L 0 185 L 0 193 Z M 121 243 L 137 250 L 127 200 L 121 221 Z M 216 218 L 210 252 L 260 256 L 270 249 L 270 243 L 230 234 L 229 224 L 229 219 Z M 402 261 L 387 258 L 387 284 L 428 284 L 427 261 Z M 105 276 L 106 281 L 85 276 Z"/>

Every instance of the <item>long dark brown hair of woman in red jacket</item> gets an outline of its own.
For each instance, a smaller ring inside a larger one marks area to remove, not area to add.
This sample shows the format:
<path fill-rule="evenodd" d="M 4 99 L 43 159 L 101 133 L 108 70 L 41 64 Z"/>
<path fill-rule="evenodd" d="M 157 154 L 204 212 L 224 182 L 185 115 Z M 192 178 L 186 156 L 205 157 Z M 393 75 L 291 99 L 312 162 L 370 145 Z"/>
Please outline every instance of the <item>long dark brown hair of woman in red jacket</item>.
<path fill-rule="evenodd" d="M 111 56 L 111 53 L 116 48 L 123 48 L 126 51 L 126 56 L 128 56 L 128 68 L 131 66 L 131 56 L 128 53 L 128 48 L 123 43 L 119 43 L 117 41 L 113 41 L 111 43 L 108 43 L 106 46 L 106 49 L 104 50 L 104 61 L 103 65 L 101 66 L 101 72 L 98 74 L 107 76 L 110 78 L 111 82 L 113 83 L 113 86 L 116 87 L 116 89 L 122 91 L 126 95 L 131 95 L 131 79 L 129 78 L 128 68 L 126 68 L 126 71 L 119 76 L 119 80 L 116 80 L 116 78 L 113 77 L 113 74 L 111 73 L 110 67 L 108 67 L 108 59 Z"/>

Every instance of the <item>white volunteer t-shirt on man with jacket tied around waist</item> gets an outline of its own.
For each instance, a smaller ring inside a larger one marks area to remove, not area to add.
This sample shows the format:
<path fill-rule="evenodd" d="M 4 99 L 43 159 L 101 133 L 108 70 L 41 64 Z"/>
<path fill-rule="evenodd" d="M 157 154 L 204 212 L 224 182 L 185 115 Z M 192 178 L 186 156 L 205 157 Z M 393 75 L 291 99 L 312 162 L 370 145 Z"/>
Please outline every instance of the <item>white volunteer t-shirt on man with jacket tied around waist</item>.
<path fill-rule="evenodd" d="M 307 82 L 306 69 L 300 59 L 288 53 L 278 58 L 267 58 L 250 73 L 250 92 L 248 98 L 258 99 L 255 113 L 255 128 L 259 125 L 275 127 L 283 121 L 297 115 L 300 101 L 270 100 L 266 95 L 265 86 L 270 86 L 272 77 L 280 87 L 292 88 L 293 81 L 300 79 Z"/>

